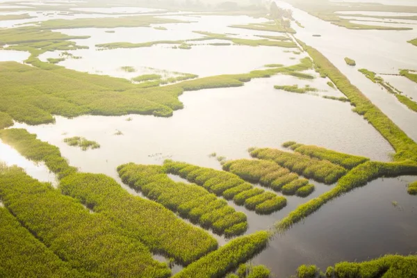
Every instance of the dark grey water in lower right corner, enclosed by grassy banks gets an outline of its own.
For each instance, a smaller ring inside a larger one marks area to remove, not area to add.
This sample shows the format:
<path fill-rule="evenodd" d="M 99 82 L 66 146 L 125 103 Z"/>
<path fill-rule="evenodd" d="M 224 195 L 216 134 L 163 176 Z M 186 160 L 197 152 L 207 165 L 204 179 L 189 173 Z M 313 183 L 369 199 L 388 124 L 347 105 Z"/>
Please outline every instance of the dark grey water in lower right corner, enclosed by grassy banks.
<path fill-rule="evenodd" d="M 254 261 L 267 265 L 277 277 L 289 277 L 301 264 L 325 270 L 339 261 L 416 252 L 416 197 L 408 195 L 406 187 L 414 179 L 377 179 L 325 204 L 276 236 Z"/>

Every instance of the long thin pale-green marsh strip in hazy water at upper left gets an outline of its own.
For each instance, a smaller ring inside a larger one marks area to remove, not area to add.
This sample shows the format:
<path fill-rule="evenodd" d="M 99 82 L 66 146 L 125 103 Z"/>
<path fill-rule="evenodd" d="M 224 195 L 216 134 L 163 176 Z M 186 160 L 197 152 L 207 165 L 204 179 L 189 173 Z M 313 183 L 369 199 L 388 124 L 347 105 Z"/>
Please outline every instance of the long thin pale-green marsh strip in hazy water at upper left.
<path fill-rule="evenodd" d="M 149 15 L 106 18 L 52 19 L 40 23 L 42 29 L 149 27 L 151 24 L 188 23 Z"/>

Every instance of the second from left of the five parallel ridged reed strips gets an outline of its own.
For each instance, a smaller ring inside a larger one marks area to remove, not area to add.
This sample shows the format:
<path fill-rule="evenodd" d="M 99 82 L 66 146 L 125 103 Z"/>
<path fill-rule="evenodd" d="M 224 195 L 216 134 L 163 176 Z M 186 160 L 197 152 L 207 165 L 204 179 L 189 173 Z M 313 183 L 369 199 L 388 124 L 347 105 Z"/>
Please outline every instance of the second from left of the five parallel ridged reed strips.
<path fill-rule="evenodd" d="M 167 172 L 195 182 L 216 195 L 233 199 L 235 204 L 245 205 L 256 213 L 268 214 L 286 206 L 284 197 L 271 195 L 260 188 L 254 188 L 236 174 L 170 160 L 164 161 L 164 167 Z M 254 198 L 255 196 L 256 198 Z"/>

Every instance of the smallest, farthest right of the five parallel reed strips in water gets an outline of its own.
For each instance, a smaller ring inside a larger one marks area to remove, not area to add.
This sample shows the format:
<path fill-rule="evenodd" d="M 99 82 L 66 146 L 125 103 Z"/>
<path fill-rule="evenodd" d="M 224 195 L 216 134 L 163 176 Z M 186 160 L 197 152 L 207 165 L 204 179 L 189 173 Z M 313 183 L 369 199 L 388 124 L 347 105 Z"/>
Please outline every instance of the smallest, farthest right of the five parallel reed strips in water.
<path fill-rule="evenodd" d="M 334 164 L 341 165 L 346 169 L 352 169 L 357 165 L 369 161 L 369 158 L 363 156 L 353 156 L 351 154 L 343 154 L 341 152 L 335 152 L 331 149 L 325 149 L 323 147 L 317 147 L 313 145 L 301 145 L 295 142 L 285 142 L 285 147 L 293 149 L 295 152 L 305 154 L 313 158 L 318 158 L 326 161 L 330 161 Z"/>

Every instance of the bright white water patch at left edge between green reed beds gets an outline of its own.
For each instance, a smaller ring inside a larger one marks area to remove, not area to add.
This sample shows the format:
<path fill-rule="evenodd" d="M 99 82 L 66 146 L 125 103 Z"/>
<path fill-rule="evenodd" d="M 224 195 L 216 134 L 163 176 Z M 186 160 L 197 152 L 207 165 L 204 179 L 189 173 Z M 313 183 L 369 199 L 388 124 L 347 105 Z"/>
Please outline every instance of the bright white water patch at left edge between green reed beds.
<path fill-rule="evenodd" d="M 0 140 L 0 162 L 6 163 L 8 166 L 17 165 L 25 170 L 25 172 L 39 181 L 50 182 L 53 186 L 57 186 L 58 181 L 54 173 L 49 172 L 44 163 L 34 163 L 24 158 L 13 147 L 4 144 Z"/>

